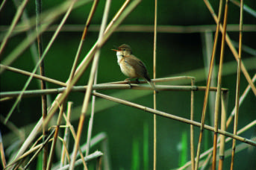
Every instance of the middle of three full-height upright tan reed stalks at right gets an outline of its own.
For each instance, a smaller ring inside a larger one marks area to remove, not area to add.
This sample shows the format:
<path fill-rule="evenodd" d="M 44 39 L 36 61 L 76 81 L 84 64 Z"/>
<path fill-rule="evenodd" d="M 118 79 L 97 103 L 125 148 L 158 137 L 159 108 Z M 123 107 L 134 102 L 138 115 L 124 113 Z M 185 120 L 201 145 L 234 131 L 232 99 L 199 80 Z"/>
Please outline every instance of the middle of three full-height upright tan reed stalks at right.
<path fill-rule="evenodd" d="M 224 49 L 225 49 L 225 36 L 226 28 L 228 21 L 228 3 L 229 0 L 225 1 L 225 12 L 224 12 L 224 21 L 223 21 L 223 32 L 222 32 L 222 44 L 220 49 L 219 57 L 219 73 L 218 73 L 218 82 L 217 82 L 217 92 L 215 100 L 215 112 L 214 112 L 214 138 L 213 138 L 213 166 L 212 169 L 216 169 L 216 150 L 217 150 L 217 137 L 218 137 L 218 125 L 219 125 L 219 104 L 220 104 L 220 95 L 221 95 L 221 84 L 222 84 L 222 66 L 224 59 Z"/>

